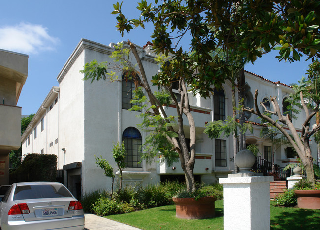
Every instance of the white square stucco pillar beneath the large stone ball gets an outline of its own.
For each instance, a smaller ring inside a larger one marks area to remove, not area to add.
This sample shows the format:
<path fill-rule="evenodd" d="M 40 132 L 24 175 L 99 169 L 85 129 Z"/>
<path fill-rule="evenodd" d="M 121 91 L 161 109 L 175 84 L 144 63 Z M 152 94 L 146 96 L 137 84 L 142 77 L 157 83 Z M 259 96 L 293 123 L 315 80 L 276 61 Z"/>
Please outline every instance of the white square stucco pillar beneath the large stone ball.
<path fill-rule="evenodd" d="M 224 186 L 224 230 L 270 230 L 272 176 L 220 178 Z"/>

